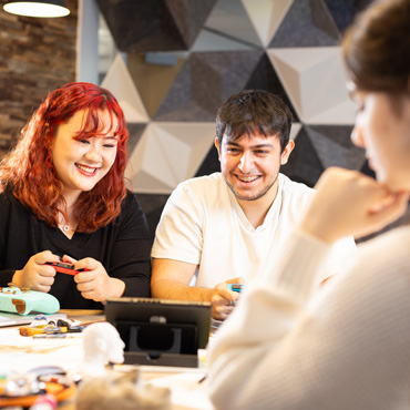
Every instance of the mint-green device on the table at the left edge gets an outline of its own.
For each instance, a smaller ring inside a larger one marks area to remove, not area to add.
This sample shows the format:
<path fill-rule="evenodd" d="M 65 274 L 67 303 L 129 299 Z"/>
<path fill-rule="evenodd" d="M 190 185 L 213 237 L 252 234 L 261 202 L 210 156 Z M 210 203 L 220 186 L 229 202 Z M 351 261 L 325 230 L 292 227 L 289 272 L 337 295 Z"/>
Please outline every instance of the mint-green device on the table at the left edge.
<path fill-rule="evenodd" d="M 55 314 L 60 309 L 59 300 L 42 291 L 30 290 L 29 288 L 20 289 L 14 284 L 9 287 L 0 287 L 0 310 L 12 314 L 28 315 L 30 311 L 41 314 Z"/>

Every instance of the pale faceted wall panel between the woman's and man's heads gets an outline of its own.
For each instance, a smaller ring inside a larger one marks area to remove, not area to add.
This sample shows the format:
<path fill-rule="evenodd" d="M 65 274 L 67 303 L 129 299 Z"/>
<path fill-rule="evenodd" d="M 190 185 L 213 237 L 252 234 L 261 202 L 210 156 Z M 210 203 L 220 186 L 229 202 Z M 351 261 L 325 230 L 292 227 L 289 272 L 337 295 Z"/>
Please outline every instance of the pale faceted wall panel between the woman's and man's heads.
<path fill-rule="evenodd" d="M 125 172 L 132 189 L 171 194 L 178 183 L 195 175 L 214 137 L 214 123 L 150 123 Z"/>

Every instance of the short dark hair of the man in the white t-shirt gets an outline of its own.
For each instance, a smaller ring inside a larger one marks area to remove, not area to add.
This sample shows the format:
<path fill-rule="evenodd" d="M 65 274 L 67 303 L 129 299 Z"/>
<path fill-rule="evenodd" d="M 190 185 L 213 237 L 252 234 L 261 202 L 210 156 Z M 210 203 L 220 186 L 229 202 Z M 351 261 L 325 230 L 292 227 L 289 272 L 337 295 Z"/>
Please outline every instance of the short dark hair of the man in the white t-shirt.
<path fill-rule="evenodd" d="M 264 90 L 244 90 L 230 95 L 216 115 L 219 146 L 224 136 L 230 141 L 255 131 L 264 136 L 277 135 L 281 152 L 289 142 L 293 115 L 278 96 Z"/>

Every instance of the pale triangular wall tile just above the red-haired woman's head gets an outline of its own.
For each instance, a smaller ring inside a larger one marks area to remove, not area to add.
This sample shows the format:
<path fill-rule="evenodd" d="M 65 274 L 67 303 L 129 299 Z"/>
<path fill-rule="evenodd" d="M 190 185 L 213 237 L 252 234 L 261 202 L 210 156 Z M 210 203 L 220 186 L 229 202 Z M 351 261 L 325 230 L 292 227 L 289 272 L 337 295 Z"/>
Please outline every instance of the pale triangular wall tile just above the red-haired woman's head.
<path fill-rule="evenodd" d="M 114 59 L 101 86 L 114 94 L 124 111 L 126 122 L 139 123 L 150 121 L 148 114 L 121 54 L 117 54 Z"/>

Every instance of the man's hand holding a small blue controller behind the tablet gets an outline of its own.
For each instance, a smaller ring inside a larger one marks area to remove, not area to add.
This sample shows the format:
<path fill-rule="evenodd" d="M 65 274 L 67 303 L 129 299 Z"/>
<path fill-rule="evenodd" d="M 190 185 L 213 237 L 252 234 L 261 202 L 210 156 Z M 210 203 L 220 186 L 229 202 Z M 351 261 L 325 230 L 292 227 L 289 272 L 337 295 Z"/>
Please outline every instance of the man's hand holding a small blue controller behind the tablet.
<path fill-rule="evenodd" d="M 229 290 L 227 284 L 245 284 L 243 277 L 233 278 L 215 286 L 212 293 L 212 317 L 217 320 L 225 320 L 234 310 L 239 299 L 238 291 Z"/>

